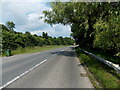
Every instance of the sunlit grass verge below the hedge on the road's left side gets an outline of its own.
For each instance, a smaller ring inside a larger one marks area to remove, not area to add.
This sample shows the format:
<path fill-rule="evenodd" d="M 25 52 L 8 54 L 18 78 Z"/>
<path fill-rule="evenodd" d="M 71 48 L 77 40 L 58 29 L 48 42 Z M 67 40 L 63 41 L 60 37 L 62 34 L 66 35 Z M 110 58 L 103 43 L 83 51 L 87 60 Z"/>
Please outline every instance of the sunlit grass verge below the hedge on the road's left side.
<path fill-rule="evenodd" d="M 67 45 L 50 45 L 50 46 L 42 46 L 42 47 L 35 46 L 35 47 L 18 48 L 17 50 L 13 50 L 11 53 L 12 53 L 12 55 L 26 54 L 26 53 L 36 53 L 36 52 L 61 48 L 61 47 L 65 47 L 65 46 L 67 46 Z M 5 56 L 5 53 L 3 53 L 2 56 Z"/>

